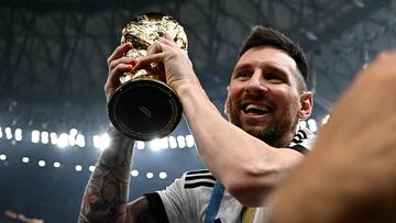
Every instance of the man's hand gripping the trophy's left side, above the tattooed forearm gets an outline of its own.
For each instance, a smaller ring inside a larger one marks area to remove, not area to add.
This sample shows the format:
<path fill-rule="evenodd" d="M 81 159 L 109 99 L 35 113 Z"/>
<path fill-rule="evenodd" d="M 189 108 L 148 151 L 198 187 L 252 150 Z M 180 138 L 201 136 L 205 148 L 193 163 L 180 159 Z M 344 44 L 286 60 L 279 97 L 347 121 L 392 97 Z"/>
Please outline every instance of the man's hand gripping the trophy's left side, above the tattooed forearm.
<path fill-rule="evenodd" d="M 124 54 L 132 49 L 132 43 L 130 42 L 118 46 L 107 60 L 109 76 L 105 85 L 105 93 L 108 102 L 110 100 L 110 96 L 120 86 L 120 76 L 124 73 L 131 73 L 138 62 L 135 58 L 124 56 Z"/>

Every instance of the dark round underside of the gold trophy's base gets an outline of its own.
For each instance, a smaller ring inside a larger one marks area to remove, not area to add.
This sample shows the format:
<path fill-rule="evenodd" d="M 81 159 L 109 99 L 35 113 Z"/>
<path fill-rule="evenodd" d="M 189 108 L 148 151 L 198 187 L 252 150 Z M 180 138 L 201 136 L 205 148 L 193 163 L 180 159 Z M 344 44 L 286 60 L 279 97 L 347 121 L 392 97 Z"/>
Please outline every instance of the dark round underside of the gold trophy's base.
<path fill-rule="evenodd" d="M 120 86 L 108 103 L 111 123 L 136 141 L 170 134 L 180 121 L 183 107 L 176 92 L 155 79 L 133 79 Z"/>

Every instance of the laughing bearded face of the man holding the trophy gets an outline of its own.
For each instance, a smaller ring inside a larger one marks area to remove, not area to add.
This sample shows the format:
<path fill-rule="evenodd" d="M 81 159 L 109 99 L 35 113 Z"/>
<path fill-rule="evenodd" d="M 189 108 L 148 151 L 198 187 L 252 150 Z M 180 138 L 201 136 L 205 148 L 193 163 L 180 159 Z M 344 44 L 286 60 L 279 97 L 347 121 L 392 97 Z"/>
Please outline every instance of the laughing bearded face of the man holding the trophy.
<path fill-rule="evenodd" d="M 296 62 L 280 49 L 257 46 L 246 51 L 228 89 L 230 121 L 272 146 L 286 146 L 299 119 L 297 75 Z"/>

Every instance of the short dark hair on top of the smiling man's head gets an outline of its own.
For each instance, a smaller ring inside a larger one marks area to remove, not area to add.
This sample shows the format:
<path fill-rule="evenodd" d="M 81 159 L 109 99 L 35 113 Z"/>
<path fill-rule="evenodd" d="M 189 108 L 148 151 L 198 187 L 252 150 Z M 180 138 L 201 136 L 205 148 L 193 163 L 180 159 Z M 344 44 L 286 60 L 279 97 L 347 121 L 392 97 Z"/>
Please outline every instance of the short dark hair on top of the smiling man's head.
<path fill-rule="evenodd" d="M 248 49 L 255 46 L 273 46 L 275 48 L 286 52 L 297 64 L 297 68 L 304 78 L 304 85 L 308 81 L 308 62 L 305 53 L 285 34 L 271 27 L 263 27 L 255 25 L 252 27 L 250 35 L 244 41 L 239 57 L 241 57 Z M 306 87 L 305 87 L 306 88 Z"/>

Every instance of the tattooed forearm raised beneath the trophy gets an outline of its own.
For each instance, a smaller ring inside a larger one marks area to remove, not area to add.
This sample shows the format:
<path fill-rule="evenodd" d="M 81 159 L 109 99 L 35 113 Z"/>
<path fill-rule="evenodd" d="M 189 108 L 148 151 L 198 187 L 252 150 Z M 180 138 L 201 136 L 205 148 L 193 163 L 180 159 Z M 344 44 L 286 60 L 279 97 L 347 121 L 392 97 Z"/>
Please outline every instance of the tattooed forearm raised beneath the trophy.
<path fill-rule="evenodd" d="M 86 188 L 79 223 L 125 221 L 133 141 L 113 127 L 111 145 L 102 152 Z"/>

